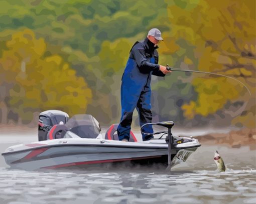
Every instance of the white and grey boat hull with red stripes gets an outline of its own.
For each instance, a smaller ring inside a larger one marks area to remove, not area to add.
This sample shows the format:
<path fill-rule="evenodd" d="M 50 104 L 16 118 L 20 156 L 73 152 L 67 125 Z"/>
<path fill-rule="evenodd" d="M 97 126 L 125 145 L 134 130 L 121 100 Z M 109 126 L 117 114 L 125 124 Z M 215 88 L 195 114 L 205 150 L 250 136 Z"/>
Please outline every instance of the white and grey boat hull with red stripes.
<path fill-rule="evenodd" d="M 172 148 L 172 166 L 186 161 L 198 146 L 197 139 L 177 144 Z M 165 139 L 123 142 L 98 138 L 61 138 L 11 146 L 2 155 L 12 168 L 25 170 L 121 161 L 153 160 L 167 163 L 168 145 Z"/>

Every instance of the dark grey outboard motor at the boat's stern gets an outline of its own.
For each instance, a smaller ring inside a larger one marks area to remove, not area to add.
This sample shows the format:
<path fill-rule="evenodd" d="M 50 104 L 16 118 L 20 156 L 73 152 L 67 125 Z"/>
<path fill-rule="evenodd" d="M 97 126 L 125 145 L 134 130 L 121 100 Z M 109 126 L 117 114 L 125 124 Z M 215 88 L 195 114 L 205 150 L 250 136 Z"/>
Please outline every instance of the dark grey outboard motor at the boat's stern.
<path fill-rule="evenodd" d="M 46 110 L 40 113 L 38 121 L 38 140 L 47 140 L 48 131 L 55 124 L 65 124 L 68 114 L 61 110 Z"/>

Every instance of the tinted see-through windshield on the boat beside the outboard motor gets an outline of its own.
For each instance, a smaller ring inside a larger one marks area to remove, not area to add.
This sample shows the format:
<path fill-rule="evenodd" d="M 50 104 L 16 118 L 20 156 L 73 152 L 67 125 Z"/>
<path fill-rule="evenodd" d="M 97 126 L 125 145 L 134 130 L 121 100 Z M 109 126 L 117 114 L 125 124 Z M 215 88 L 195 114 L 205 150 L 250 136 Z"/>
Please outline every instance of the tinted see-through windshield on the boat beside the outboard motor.
<path fill-rule="evenodd" d="M 65 125 L 82 138 L 96 138 L 100 132 L 99 122 L 90 114 L 74 115 Z"/>

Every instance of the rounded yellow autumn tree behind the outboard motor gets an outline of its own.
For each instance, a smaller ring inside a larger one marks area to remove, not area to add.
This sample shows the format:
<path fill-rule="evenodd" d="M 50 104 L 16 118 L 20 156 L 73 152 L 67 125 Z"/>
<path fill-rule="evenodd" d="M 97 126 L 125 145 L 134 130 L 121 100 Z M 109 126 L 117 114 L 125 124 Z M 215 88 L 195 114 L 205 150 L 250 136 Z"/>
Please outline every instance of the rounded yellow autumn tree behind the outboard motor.
<path fill-rule="evenodd" d="M 71 115 L 86 111 L 91 90 L 61 56 L 43 57 L 46 43 L 42 38 L 25 29 L 14 33 L 6 44 L 1 65 L 4 81 L 12 82 L 6 95 L 8 106 L 25 122 L 33 112 L 45 109 L 62 109 Z"/>

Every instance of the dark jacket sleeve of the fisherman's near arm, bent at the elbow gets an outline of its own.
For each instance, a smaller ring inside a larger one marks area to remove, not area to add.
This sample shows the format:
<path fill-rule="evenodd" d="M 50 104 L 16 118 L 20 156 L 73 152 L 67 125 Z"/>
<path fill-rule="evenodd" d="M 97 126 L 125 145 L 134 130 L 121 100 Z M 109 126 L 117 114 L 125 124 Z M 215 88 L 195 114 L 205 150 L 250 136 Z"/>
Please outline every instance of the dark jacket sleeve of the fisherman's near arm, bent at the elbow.
<path fill-rule="evenodd" d="M 142 73 L 159 70 L 159 64 L 151 63 L 147 60 L 145 48 L 141 46 L 140 43 L 133 47 L 132 54 Z"/>

